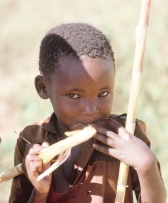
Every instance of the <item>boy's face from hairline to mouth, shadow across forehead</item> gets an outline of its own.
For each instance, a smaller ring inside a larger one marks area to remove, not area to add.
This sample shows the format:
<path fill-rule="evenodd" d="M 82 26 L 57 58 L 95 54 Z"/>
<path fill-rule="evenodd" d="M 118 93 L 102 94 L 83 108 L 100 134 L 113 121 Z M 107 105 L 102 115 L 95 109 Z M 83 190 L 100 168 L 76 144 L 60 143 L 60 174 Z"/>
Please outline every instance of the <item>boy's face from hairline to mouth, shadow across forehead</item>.
<path fill-rule="evenodd" d="M 100 124 L 112 110 L 114 63 L 108 59 L 64 56 L 47 85 L 58 119 L 70 129 Z"/>

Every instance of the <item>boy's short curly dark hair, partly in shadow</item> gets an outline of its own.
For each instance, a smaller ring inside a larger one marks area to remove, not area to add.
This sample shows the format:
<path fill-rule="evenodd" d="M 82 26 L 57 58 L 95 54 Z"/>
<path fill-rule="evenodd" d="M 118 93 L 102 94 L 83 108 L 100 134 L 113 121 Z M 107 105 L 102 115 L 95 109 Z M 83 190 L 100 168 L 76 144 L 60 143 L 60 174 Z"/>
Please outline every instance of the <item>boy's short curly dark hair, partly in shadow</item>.
<path fill-rule="evenodd" d="M 49 76 L 58 66 L 60 56 L 105 58 L 114 53 L 101 31 L 85 23 L 67 23 L 52 28 L 43 38 L 39 53 L 39 70 Z"/>

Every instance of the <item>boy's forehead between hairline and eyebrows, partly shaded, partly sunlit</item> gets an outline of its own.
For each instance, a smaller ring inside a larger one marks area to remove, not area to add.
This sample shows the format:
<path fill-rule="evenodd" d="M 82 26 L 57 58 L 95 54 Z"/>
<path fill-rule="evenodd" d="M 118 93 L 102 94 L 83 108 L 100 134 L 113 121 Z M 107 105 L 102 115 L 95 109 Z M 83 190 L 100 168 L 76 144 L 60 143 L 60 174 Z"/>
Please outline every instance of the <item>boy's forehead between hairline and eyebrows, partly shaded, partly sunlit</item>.
<path fill-rule="evenodd" d="M 99 84 L 114 81 L 114 63 L 112 59 L 90 58 L 82 56 L 62 57 L 58 63 L 58 69 L 52 78 L 55 85 L 71 85 L 73 84 Z"/>

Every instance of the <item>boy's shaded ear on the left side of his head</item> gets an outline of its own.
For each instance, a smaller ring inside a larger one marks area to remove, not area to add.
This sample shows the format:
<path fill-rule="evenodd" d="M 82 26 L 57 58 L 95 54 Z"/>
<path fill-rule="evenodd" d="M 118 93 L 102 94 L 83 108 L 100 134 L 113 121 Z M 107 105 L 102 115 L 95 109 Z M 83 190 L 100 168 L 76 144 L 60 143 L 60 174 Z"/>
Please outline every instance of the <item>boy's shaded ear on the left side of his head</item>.
<path fill-rule="evenodd" d="M 48 91 L 46 87 L 46 80 L 43 76 L 37 75 L 34 80 L 36 91 L 42 99 L 48 99 Z"/>

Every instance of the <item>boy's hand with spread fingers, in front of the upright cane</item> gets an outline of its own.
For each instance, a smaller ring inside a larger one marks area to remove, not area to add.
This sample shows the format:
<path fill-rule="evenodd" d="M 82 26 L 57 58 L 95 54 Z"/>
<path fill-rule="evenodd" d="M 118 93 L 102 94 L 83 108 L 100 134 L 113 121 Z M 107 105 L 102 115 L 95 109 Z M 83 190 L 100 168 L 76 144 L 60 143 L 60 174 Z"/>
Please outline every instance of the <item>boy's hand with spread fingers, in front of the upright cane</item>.
<path fill-rule="evenodd" d="M 116 133 L 92 125 L 97 130 L 94 138 L 107 145 L 94 144 L 93 147 L 132 166 L 139 173 L 145 174 L 149 172 L 153 164 L 155 164 L 155 157 L 149 147 L 142 140 L 126 131 L 116 120 L 108 119 L 107 123 Z"/>

